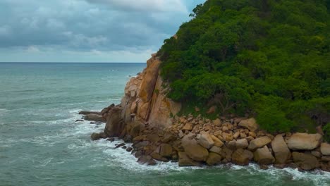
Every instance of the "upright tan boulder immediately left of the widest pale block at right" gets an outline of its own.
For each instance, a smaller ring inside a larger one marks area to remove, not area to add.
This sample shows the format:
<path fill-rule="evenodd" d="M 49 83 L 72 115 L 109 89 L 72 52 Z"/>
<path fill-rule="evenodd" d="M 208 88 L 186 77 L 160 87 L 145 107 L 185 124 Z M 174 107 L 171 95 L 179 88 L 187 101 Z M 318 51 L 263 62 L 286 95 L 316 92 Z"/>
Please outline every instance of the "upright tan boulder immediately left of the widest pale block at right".
<path fill-rule="evenodd" d="M 282 135 L 276 135 L 274 140 L 271 142 L 271 148 L 274 151 L 277 164 L 284 164 L 288 161 L 288 159 L 290 159 L 291 152 L 288 149 L 288 145 L 286 145 Z"/>

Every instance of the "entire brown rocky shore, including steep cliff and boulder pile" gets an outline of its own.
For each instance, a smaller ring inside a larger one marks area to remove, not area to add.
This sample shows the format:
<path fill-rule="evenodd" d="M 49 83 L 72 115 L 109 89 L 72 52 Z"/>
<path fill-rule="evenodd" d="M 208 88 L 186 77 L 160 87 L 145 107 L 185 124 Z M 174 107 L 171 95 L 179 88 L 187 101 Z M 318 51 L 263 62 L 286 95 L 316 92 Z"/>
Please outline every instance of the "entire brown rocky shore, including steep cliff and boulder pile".
<path fill-rule="evenodd" d="M 330 144 L 322 134 L 290 132 L 272 135 L 259 129 L 254 118 L 217 118 L 176 114 L 181 104 L 166 98 L 166 86 L 159 76 L 159 58 L 155 54 L 147 68 L 126 85 L 121 104 L 101 112 L 86 112 L 85 120 L 106 122 L 102 133 L 92 140 L 114 137 L 132 142 L 130 151 L 139 163 L 156 165 L 157 161 L 178 161 L 178 166 L 214 166 L 235 163 L 260 168 L 299 168 L 301 171 L 330 171 Z"/>

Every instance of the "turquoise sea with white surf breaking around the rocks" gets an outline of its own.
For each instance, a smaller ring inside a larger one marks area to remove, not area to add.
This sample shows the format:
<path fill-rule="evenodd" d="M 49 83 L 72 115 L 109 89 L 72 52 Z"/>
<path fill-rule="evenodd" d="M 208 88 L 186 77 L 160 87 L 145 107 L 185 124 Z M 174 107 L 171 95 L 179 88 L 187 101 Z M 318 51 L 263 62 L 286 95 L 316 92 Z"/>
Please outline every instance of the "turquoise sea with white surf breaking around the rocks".
<path fill-rule="evenodd" d="M 330 174 L 257 166 L 141 166 L 80 110 L 118 104 L 143 63 L 0 63 L 0 185 L 330 185 Z"/>

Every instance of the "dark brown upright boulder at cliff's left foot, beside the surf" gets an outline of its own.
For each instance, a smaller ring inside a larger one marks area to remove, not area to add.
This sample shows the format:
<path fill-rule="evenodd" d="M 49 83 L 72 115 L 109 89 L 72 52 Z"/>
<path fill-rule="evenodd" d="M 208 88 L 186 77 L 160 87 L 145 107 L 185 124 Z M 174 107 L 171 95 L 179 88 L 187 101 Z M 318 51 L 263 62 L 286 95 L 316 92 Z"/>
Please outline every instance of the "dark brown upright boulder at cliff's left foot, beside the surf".
<path fill-rule="evenodd" d="M 118 137 L 125 128 L 125 123 L 123 123 L 121 118 L 121 111 L 123 111 L 123 109 L 121 109 L 120 106 L 116 106 L 109 111 L 109 116 L 104 128 L 104 133 L 108 137 Z"/>

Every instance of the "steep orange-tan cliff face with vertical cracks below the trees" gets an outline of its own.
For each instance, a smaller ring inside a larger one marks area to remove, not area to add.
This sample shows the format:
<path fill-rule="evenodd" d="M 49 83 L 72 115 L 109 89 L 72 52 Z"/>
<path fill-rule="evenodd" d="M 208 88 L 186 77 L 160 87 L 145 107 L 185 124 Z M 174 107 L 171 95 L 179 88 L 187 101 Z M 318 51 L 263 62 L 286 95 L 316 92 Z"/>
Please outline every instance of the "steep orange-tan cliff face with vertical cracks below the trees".
<path fill-rule="evenodd" d="M 147 68 L 127 83 L 121 101 L 125 123 L 135 120 L 155 128 L 166 128 L 172 123 L 171 115 L 181 110 L 181 104 L 166 98 L 168 89 L 159 75 L 160 63 L 153 54 L 147 61 Z"/>

